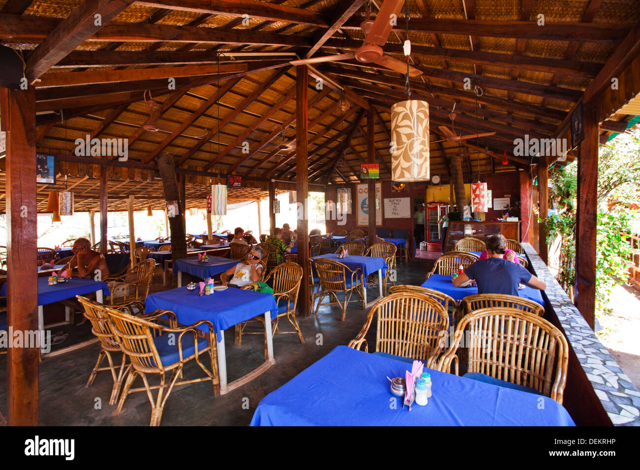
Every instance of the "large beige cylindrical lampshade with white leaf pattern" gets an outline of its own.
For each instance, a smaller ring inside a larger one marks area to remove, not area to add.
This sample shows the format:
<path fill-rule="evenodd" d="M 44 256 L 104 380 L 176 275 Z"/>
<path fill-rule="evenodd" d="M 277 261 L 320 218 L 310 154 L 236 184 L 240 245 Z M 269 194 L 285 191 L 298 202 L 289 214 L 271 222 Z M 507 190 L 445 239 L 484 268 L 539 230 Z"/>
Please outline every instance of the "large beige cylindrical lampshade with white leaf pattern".
<path fill-rule="evenodd" d="M 391 174 L 398 182 L 428 181 L 429 104 L 407 100 L 391 107 Z"/>

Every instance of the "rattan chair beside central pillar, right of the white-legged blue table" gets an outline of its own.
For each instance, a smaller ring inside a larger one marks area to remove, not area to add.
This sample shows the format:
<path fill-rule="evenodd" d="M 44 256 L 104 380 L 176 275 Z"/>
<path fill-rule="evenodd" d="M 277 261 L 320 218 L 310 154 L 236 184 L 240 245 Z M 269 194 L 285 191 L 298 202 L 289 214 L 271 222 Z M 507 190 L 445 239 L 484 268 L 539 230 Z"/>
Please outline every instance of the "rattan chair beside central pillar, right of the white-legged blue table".
<path fill-rule="evenodd" d="M 298 304 L 298 293 L 300 292 L 300 282 L 302 280 L 302 267 L 297 263 L 283 263 L 276 266 L 266 278 L 266 283 L 273 288 L 273 297 L 278 304 L 278 315 L 271 318 L 271 334 L 298 334 L 300 343 L 305 343 L 305 338 L 300 331 L 300 325 L 296 320 L 296 306 Z M 244 286 L 246 290 L 255 290 L 256 286 Z M 278 331 L 278 320 L 287 317 L 294 331 Z M 237 346 L 242 345 L 243 334 L 264 334 L 264 332 L 245 332 L 246 325 L 252 322 L 259 322 L 264 325 L 264 316 L 259 315 L 248 322 L 236 325 L 235 341 Z M 267 357 L 267 338 L 264 337 L 264 357 Z"/>

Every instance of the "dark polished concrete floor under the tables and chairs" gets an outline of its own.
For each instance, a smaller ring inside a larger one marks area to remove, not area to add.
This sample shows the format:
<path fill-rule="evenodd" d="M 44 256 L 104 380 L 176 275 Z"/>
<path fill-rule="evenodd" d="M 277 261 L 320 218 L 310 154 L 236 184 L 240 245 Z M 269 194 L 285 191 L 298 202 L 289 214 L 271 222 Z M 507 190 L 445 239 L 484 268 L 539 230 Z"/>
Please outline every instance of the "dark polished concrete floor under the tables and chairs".
<path fill-rule="evenodd" d="M 418 259 L 406 264 L 399 262 L 398 283 L 419 285 L 431 267 L 431 260 Z M 156 272 L 155 281 L 153 290 L 162 290 L 159 271 Z M 378 286 L 369 287 L 367 295 L 369 300 L 376 297 Z M 346 345 L 355 338 L 366 316 L 367 312 L 360 309 L 360 304 L 353 303 L 348 308 L 344 322 L 340 321 L 340 309 L 337 306 L 323 307 L 318 315 L 299 318 L 305 344 L 300 343 L 296 334 L 276 335 L 273 341 L 276 363 L 249 384 L 227 395 L 214 396 L 211 382 L 173 389 L 164 407 L 161 424 L 248 425 L 255 408 L 265 395 L 282 386 L 334 347 Z M 76 319 L 79 320 L 79 316 Z M 72 329 L 74 326 L 67 325 L 67 330 Z M 236 347 L 233 329 L 228 329 L 226 333 L 227 373 L 228 380 L 232 381 L 264 361 L 264 336 L 245 335 L 242 347 Z M 72 339 L 71 334 L 69 339 Z M 375 326 L 367 335 L 370 345 L 374 345 L 374 340 Z M 129 395 L 119 414 L 115 405 L 109 405 L 113 380 L 108 371 L 99 372 L 93 385 L 85 388 L 98 353 L 99 345 L 95 343 L 60 356 L 46 357 L 40 363 L 40 425 L 149 424 L 151 407 L 144 392 Z M 200 377 L 201 374 L 202 370 L 192 363 L 185 370 L 184 378 Z M 157 383 L 157 380 L 153 383 Z M 6 384 L 6 355 L 0 356 L 0 384 Z M 134 386 L 141 384 L 142 380 L 136 379 Z M 0 416 L 2 415 L 6 416 L 6 386 L 0 387 Z M 2 419 L 0 423 L 1 421 Z"/>

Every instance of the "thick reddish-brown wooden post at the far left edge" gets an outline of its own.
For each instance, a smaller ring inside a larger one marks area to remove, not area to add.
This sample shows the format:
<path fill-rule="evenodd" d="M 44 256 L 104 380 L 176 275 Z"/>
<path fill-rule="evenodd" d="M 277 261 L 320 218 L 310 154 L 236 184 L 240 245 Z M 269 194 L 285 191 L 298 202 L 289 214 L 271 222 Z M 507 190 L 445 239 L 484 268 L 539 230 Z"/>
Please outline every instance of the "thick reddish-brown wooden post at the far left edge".
<path fill-rule="evenodd" d="M 28 331 L 38 331 L 38 289 L 29 288 L 38 283 L 35 88 L 0 88 L 0 113 L 6 132 L 7 324 L 26 337 Z M 38 425 L 40 345 L 30 346 L 7 350 L 10 426 Z"/>

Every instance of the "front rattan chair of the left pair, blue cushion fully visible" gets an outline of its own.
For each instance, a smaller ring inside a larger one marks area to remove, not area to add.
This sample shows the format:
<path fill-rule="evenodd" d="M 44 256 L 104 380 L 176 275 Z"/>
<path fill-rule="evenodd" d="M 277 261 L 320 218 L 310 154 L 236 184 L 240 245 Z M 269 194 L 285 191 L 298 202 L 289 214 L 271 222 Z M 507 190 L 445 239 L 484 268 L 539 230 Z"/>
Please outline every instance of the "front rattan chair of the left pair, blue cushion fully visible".
<path fill-rule="evenodd" d="M 159 426 L 164 404 L 174 386 L 211 380 L 213 393 L 218 395 L 220 379 L 218 376 L 216 333 L 211 322 L 199 320 L 186 327 L 166 327 L 156 324 L 152 320 L 167 316 L 175 324 L 175 314 L 172 311 L 156 310 L 145 317 L 134 317 L 113 308 L 104 308 L 104 311 L 109 316 L 109 322 L 120 349 L 129 356 L 131 361 L 131 367 L 122 388 L 122 396 L 118 402 L 118 412 L 122 411 L 129 393 L 146 391 L 151 403 L 150 425 Z M 198 333 L 202 335 L 203 331 L 196 330 L 196 327 L 205 327 L 209 331 L 204 333 L 204 338 L 202 338 L 198 336 Z M 200 357 L 204 354 L 209 354 L 211 370 L 208 370 L 200 362 Z M 178 380 L 182 379 L 184 364 L 193 359 L 205 372 L 205 377 Z M 159 385 L 149 385 L 147 380 L 149 373 L 160 375 Z M 170 377 L 166 377 L 168 373 L 171 373 Z M 144 388 L 132 389 L 131 386 L 138 375 L 142 377 Z M 155 403 L 151 394 L 152 389 L 159 389 Z"/>

